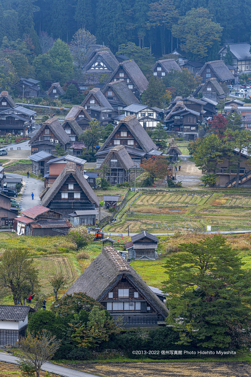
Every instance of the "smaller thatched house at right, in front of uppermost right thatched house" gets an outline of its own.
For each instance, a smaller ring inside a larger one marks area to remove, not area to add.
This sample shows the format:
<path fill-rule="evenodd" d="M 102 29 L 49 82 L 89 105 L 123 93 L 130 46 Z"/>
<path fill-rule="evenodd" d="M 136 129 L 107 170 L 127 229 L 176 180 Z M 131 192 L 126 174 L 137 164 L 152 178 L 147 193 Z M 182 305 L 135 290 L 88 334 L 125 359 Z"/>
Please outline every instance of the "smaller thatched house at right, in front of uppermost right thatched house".
<path fill-rule="evenodd" d="M 222 102 L 226 98 L 225 92 L 216 78 L 206 79 L 205 83 L 200 84 L 193 92 L 193 97 L 198 97 L 199 93 L 201 93 L 203 97 L 215 102 Z"/>

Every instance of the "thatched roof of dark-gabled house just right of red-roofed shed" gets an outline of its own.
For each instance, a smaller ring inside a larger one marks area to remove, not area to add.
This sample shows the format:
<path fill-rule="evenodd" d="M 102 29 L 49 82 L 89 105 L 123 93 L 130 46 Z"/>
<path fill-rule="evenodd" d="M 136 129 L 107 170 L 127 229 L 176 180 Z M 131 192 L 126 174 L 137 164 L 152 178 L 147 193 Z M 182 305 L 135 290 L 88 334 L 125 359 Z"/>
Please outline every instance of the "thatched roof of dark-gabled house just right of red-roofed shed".
<path fill-rule="evenodd" d="M 99 207 L 99 199 L 97 195 L 94 193 L 91 186 L 88 184 L 87 180 L 84 178 L 78 167 L 76 166 L 76 162 L 67 162 L 66 166 L 59 174 L 56 181 L 50 186 L 49 190 L 44 194 L 43 200 L 41 205 L 43 207 L 47 207 L 50 201 L 53 200 L 54 196 L 58 193 L 61 189 L 62 185 L 68 178 L 68 176 L 72 175 L 73 178 L 76 179 L 81 189 L 84 191 L 87 198 L 93 204 L 95 203 L 95 207 Z"/>

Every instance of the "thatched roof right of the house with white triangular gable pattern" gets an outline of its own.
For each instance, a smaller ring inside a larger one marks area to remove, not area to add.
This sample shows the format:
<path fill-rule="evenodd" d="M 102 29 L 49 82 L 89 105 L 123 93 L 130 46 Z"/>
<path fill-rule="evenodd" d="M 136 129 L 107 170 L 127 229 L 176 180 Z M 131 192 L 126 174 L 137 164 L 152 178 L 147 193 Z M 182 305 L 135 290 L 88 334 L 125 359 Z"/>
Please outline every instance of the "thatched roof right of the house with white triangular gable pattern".
<path fill-rule="evenodd" d="M 120 67 L 123 67 L 125 69 L 128 76 L 131 78 L 134 85 L 137 87 L 138 91 L 140 93 L 143 93 L 144 90 L 146 90 L 148 86 L 148 81 L 146 77 L 143 75 L 143 72 L 141 71 L 140 67 L 135 63 L 134 60 L 125 60 L 122 61 L 122 63 L 119 63 L 117 68 L 114 70 L 113 74 L 111 75 L 109 82 L 114 77 L 114 75 L 117 73 Z"/>

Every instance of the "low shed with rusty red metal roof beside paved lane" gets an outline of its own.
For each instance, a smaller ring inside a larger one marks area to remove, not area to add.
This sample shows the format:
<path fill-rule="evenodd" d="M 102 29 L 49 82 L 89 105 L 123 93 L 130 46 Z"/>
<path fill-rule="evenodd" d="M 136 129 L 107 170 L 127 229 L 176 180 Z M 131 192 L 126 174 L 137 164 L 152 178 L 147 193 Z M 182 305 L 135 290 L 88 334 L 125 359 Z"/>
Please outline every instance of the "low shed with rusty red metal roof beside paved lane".
<path fill-rule="evenodd" d="M 28 210 L 21 211 L 21 216 L 15 218 L 13 230 L 26 236 L 45 237 L 62 236 L 68 233 L 71 224 L 62 219 L 61 214 L 41 205 L 34 205 Z"/>

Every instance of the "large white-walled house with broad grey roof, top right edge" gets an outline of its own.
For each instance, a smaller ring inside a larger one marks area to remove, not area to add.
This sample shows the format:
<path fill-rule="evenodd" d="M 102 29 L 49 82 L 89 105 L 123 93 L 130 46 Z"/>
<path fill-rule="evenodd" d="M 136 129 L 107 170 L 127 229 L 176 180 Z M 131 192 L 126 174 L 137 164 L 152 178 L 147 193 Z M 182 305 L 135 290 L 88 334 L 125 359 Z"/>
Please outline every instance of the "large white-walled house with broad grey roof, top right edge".
<path fill-rule="evenodd" d="M 251 53 L 249 51 L 251 48 L 250 44 L 248 42 L 225 43 L 219 51 L 220 60 L 224 59 L 227 53 L 228 44 L 233 58 L 232 64 L 234 67 L 238 67 L 238 72 L 235 73 L 242 74 L 251 72 Z"/>

